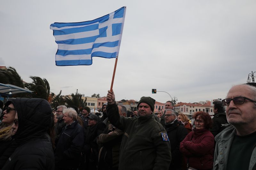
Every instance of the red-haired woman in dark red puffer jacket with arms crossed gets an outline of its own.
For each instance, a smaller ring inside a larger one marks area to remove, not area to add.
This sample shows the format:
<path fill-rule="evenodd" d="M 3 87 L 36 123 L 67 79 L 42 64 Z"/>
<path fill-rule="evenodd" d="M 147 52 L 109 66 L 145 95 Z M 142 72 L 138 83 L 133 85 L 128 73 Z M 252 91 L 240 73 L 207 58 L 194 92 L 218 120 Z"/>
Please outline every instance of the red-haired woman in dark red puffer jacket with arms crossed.
<path fill-rule="evenodd" d="M 205 112 L 195 113 L 195 129 L 180 143 L 180 152 L 186 157 L 188 167 L 210 170 L 213 166 L 214 137 L 210 132 L 211 116 Z"/>

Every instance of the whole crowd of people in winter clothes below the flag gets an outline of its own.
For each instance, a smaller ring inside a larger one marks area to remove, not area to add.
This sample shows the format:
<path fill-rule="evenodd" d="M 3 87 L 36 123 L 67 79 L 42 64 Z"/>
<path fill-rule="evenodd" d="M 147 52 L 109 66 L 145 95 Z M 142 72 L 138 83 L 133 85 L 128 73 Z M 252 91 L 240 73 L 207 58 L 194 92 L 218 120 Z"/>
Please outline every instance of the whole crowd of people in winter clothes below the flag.
<path fill-rule="evenodd" d="M 0 169 L 256 169 L 254 86 L 233 86 L 213 102 L 213 118 L 193 114 L 194 126 L 172 101 L 154 113 L 151 97 L 133 111 L 117 105 L 113 91 L 106 98 L 102 116 L 89 107 L 52 111 L 44 99 L 8 100 L 0 110 Z"/>

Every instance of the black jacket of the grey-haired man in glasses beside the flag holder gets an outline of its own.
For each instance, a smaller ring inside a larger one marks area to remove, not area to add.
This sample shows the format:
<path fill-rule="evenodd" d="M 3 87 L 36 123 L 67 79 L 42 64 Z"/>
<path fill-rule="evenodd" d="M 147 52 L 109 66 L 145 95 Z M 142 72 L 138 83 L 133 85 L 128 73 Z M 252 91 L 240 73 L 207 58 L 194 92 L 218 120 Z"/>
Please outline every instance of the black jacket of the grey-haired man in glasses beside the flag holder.
<path fill-rule="evenodd" d="M 171 169 L 180 169 L 182 163 L 182 154 L 180 153 L 180 142 L 187 136 L 188 131 L 184 125 L 177 119 L 172 124 L 165 124 L 166 132 L 170 139 L 172 162 Z"/>

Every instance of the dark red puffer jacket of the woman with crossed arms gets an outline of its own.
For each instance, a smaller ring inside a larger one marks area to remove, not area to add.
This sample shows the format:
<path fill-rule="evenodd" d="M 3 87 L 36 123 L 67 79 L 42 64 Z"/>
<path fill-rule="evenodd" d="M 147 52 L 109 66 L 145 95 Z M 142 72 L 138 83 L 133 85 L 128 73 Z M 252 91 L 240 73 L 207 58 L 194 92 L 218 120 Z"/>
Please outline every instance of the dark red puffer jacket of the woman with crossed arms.
<path fill-rule="evenodd" d="M 180 152 L 189 159 L 189 166 L 199 169 L 212 169 L 214 137 L 209 129 L 193 129 L 180 143 Z"/>

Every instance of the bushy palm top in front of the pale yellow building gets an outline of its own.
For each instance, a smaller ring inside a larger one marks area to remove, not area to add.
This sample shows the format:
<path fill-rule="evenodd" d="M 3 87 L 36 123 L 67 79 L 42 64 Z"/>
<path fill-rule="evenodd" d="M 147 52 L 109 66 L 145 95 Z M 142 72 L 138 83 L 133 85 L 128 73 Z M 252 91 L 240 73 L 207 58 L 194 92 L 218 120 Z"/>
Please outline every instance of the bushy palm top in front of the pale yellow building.
<path fill-rule="evenodd" d="M 79 110 L 81 110 L 83 107 L 87 105 L 86 100 L 87 98 L 85 98 L 85 100 L 82 99 L 82 94 L 80 93 L 72 93 L 71 98 L 69 96 L 66 96 L 64 98 L 67 107 L 76 106 L 79 108 Z"/>

